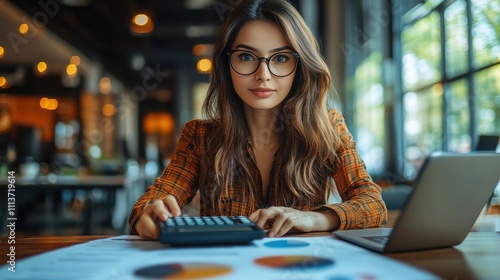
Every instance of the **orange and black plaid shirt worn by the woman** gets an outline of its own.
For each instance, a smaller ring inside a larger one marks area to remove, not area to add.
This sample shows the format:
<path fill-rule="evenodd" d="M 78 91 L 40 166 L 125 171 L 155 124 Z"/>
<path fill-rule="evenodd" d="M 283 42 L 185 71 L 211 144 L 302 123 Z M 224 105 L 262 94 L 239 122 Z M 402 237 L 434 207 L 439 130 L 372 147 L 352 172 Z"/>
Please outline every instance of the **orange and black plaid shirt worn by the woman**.
<path fill-rule="evenodd" d="M 356 144 L 351 133 L 348 131 L 344 118 L 339 111 L 330 110 L 330 119 L 340 135 L 341 143 L 336 147 L 338 158 L 335 161 L 335 171 L 332 178 L 338 190 L 342 202 L 328 204 L 324 194 L 318 194 L 314 205 L 306 205 L 299 210 L 334 211 L 340 217 L 341 229 L 367 228 L 380 226 L 386 220 L 387 209 L 381 197 L 381 189 L 371 179 L 366 171 L 365 165 L 358 155 Z M 206 120 L 193 120 L 188 122 L 182 131 L 179 143 L 174 151 L 170 164 L 165 168 L 162 175 L 156 178 L 155 183 L 148 187 L 146 192 L 137 200 L 129 216 L 129 225 L 132 234 L 137 234 L 135 224 L 143 213 L 147 202 L 151 199 L 164 199 L 168 194 L 173 195 L 180 207 L 186 205 L 202 186 L 210 186 L 210 182 L 200 182 L 199 170 L 206 168 L 200 166 L 199 155 L 205 153 L 205 140 L 209 134 L 211 122 Z M 256 180 L 260 179 L 260 172 L 255 164 L 253 149 L 250 142 L 247 143 L 249 156 L 252 158 L 253 170 Z M 279 155 L 275 155 L 279 157 Z M 272 184 L 277 186 L 279 178 L 270 179 L 269 189 Z M 271 183 L 272 182 L 272 183 Z M 257 192 L 262 192 L 262 186 L 256 186 Z M 262 196 L 257 196 L 254 201 L 242 201 L 241 190 L 233 188 L 228 197 L 229 201 L 226 213 L 216 213 L 210 208 L 210 203 L 204 203 L 208 197 L 203 193 L 200 197 L 201 215 L 245 215 L 249 216 L 255 210 L 263 207 L 278 206 L 266 205 Z M 272 194 L 270 194 L 272 195 Z M 280 205 L 286 206 L 286 205 Z"/>

